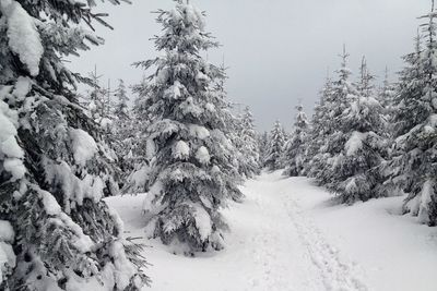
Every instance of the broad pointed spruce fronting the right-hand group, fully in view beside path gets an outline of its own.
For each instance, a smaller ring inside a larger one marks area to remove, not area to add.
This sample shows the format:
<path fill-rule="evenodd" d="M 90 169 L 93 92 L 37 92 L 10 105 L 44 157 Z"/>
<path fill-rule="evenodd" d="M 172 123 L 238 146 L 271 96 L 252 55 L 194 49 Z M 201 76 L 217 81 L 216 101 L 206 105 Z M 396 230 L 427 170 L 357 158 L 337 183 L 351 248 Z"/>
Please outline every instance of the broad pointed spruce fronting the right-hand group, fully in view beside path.
<path fill-rule="evenodd" d="M 386 150 L 382 107 L 375 97 L 374 77 L 365 59 L 361 68 L 357 92 L 351 88 L 345 96 L 346 108 L 338 117 L 336 147 L 331 155 L 328 189 L 342 203 L 378 197 L 381 182 L 380 165 Z"/>

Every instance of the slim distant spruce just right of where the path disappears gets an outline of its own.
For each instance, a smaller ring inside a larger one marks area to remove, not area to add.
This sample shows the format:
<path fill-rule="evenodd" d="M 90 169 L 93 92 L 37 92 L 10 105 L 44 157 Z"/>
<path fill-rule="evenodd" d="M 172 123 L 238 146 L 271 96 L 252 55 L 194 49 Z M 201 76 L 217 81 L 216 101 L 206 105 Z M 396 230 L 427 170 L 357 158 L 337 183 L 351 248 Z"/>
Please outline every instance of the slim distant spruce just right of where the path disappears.
<path fill-rule="evenodd" d="M 297 177 L 303 173 L 305 162 L 305 151 L 307 149 L 307 134 L 309 131 L 309 122 L 304 107 L 296 107 L 297 114 L 294 123 L 292 137 L 285 145 L 284 149 L 284 175 Z"/>

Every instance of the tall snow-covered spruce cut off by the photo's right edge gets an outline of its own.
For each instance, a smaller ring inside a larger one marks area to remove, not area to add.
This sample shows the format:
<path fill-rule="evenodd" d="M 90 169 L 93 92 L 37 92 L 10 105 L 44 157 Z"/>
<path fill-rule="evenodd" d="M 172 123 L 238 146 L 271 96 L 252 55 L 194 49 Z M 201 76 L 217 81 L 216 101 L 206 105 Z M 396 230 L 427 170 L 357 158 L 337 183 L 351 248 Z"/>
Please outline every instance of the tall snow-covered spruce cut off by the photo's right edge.
<path fill-rule="evenodd" d="M 426 43 L 416 40 L 414 53 L 405 57 L 395 106 L 395 151 L 391 182 L 409 194 L 404 211 L 429 226 L 437 225 L 437 54 L 436 12 L 423 16 Z"/>

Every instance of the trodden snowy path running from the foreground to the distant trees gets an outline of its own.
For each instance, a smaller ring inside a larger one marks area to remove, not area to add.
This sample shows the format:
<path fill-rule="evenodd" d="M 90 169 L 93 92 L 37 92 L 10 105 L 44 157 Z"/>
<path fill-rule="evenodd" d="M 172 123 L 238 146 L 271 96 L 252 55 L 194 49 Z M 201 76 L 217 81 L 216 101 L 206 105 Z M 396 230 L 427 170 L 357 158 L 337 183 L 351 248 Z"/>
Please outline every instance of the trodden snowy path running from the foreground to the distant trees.
<path fill-rule="evenodd" d="M 262 207 L 262 220 L 269 218 L 260 221 L 260 232 L 270 239 L 255 244 L 261 250 L 261 262 L 273 256 L 279 263 L 265 268 L 264 281 L 273 284 L 261 284 L 260 290 L 368 290 L 357 266 L 342 259 L 327 242 L 309 214 L 297 204 L 294 190 L 284 178 L 277 173 L 261 175 L 247 184 L 246 194 Z M 298 277 L 293 268 L 297 268 Z"/>

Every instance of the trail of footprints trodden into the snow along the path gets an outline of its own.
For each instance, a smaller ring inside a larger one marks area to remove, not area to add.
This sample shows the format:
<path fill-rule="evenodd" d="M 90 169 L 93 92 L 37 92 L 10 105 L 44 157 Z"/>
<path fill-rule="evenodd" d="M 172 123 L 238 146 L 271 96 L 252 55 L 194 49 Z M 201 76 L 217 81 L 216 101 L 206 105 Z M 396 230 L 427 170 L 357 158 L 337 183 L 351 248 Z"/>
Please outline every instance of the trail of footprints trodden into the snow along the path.
<path fill-rule="evenodd" d="M 315 223 L 303 214 L 292 197 L 286 197 L 288 216 L 312 264 L 319 269 L 323 284 L 330 291 L 368 291 L 359 267 L 341 259 L 339 250 L 329 244 Z"/>

